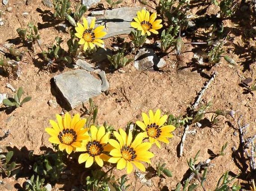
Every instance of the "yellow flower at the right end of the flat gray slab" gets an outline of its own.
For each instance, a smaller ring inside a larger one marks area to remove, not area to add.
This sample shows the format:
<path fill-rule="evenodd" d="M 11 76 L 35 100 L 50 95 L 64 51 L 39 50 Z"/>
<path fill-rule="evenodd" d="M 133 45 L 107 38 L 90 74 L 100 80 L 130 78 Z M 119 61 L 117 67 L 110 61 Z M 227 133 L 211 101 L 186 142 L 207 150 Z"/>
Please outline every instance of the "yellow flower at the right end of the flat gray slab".
<path fill-rule="evenodd" d="M 150 32 L 158 34 L 157 30 L 163 27 L 163 25 L 160 24 L 162 22 L 161 19 L 155 20 L 157 13 L 152 13 L 152 15 L 149 16 L 149 12 L 142 9 L 138 11 L 137 16 L 138 17 L 133 18 L 135 22 L 131 22 L 131 26 L 141 31 L 141 35 L 147 34 L 149 36 L 151 35 Z"/>

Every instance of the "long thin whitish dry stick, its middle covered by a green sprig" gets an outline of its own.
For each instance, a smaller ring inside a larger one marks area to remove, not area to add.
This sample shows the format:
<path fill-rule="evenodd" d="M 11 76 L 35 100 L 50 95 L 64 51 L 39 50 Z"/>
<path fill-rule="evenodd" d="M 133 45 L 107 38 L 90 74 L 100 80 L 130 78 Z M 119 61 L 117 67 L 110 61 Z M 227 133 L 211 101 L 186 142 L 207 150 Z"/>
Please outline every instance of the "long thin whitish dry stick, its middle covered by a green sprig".
<path fill-rule="evenodd" d="M 214 72 L 212 77 L 210 78 L 210 80 L 206 83 L 206 85 L 203 87 L 203 89 L 199 92 L 197 101 L 195 101 L 195 103 L 192 105 L 192 109 L 195 110 L 197 108 L 197 106 L 199 105 L 199 103 L 202 99 L 202 96 L 203 96 L 204 92 L 208 89 L 208 87 L 213 82 L 213 80 L 215 79 L 217 74 L 218 74 L 217 72 Z M 184 142 L 185 142 L 185 139 L 186 139 L 186 135 L 188 134 L 188 130 L 189 130 L 189 125 L 186 126 L 186 128 L 184 130 L 184 134 L 183 134 L 182 139 L 181 139 L 181 146 L 180 146 L 180 149 L 179 149 L 179 156 L 180 157 L 183 154 Z"/>

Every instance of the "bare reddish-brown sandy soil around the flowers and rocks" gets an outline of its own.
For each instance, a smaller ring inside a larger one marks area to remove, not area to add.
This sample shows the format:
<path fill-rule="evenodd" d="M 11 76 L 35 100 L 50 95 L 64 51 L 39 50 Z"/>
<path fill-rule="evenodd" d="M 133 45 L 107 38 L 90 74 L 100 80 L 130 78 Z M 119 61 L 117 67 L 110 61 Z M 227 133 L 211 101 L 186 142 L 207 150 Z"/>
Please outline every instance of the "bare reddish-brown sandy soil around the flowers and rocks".
<path fill-rule="evenodd" d="M 43 12 L 52 12 L 53 9 L 45 7 L 40 0 L 33 0 L 29 5 L 25 4 L 24 0 L 9 0 L 7 6 L 0 5 L 2 11 L 4 25 L 0 26 L 0 43 L 6 42 L 16 43 L 17 33 L 16 29 L 19 27 L 27 26 L 29 21 L 33 21 L 39 27 L 39 34 L 41 36 L 42 48 L 47 49 L 54 43 L 55 36 L 61 36 L 64 41 L 69 39 L 69 34 L 59 32 L 55 26 L 48 25 L 46 20 L 43 20 L 43 13 L 38 11 L 41 9 Z M 121 6 L 134 6 L 132 0 L 124 0 Z M 73 1 L 75 3 L 75 1 Z M 104 3 L 104 2 L 102 2 Z M 104 3 L 105 4 L 105 3 Z M 139 2 L 137 2 L 137 5 Z M 149 4 L 152 4 L 149 1 Z M 106 5 L 106 4 L 105 4 Z M 12 7 L 12 11 L 8 12 L 7 7 Z M 148 8 L 150 9 L 150 8 Z M 191 12 L 197 12 L 197 7 Z M 213 13 L 216 7 L 210 6 L 207 13 Z M 23 16 L 22 12 L 28 12 L 27 16 Z M 246 20 L 246 19 L 244 19 Z M 167 55 L 164 59 L 167 66 L 161 71 L 144 71 L 136 70 L 132 63 L 123 68 L 126 73 L 118 71 L 110 72 L 107 67 L 103 69 L 107 72 L 107 79 L 110 83 L 108 95 L 102 93 L 101 95 L 93 98 L 95 105 L 98 106 L 98 123 L 103 124 L 107 121 L 108 124 L 114 125 L 115 129 L 125 127 L 127 122 L 141 120 L 141 112 L 147 112 L 149 109 L 154 111 L 160 108 L 163 112 L 172 113 L 175 116 L 185 115 L 186 111 L 191 104 L 194 103 L 198 92 L 204 86 L 204 83 L 209 79 L 213 72 L 218 72 L 216 79 L 207 89 L 203 95 L 201 104 L 206 104 L 209 101 L 213 102 L 210 111 L 217 109 L 237 111 L 236 118 L 243 114 L 243 122 L 250 124 L 247 136 L 252 136 L 256 132 L 255 119 L 256 119 L 256 98 L 253 93 L 244 93 L 244 88 L 239 84 L 241 80 L 246 77 L 254 77 L 253 64 L 250 69 L 246 69 L 244 61 L 250 54 L 247 53 L 248 46 L 243 41 L 243 30 L 246 23 L 243 19 L 240 22 L 225 20 L 225 30 L 231 31 L 230 35 L 233 37 L 233 46 L 226 47 L 228 55 L 237 61 L 237 67 L 229 66 L 223 59 L 219 64 L 214 66 L 211 70 L 195 70 L 192 67 L 177 71 L 177 62 L 175 55 Z M 40 23 L 40 24 L 39 24 Z M 238 32 L 240 31 L 240 32 Z M 242 32 L 241 32 L 242 31 Z M 127 38 L 127 36 L 124 36 Z M 128 38 L 127 38 L 128 39 Z M 184 41 L 191 39 L 184 38 Z M 252 39 L 254 40 L 254 39 Z M 65 43 L 63 43 L 65 44 Z M 107 39 L 107 46 L 110 46 L 111 39 Z M 22 44 L 15 44 L 19 48 Z M 67 48 L 67 47 L 65 47 Z M 184 45 L 184 50 L 189 51 L 194 47 L 192 45 Z M 40 53 L 40 49 L 36 46 L 35 54 Z M 193 52 L 185 52 L 182 54 L 182 64 L 188 66 L 191 62 Z M 25 95 L 32 96 L 32 101 L 25 103 L 21 108 L 17 108 L 11 114 L 6 114 L 4 111 L 0 112 L 1 131 L 10 129 L 10 136 L 1 141 L 1 149 L 5 147 L 27 147 L 28 150 L 34 150 L 35 153 L 40 154 L 41 146 L 52 147 L 48 142 L 48 134 L 44 128 L 49 126 L 49 120 L 55 119 L 56 114 L 62 112 L 60 106 L 49 106 L 49 100 L 55 100 L 51 93 L 50 79 L 72 69 L 65 68 L 62 71 L 49 73 L 39 71 L 41 66 L 34 63 L 32 58 L 28 63 L 21 63 L 22 75 L 20 79 L 10 80 L 10 84 L 18 89 L 22 86 Z M 204 74 L 204 75 L 203 75 Z M 208 78 L 207 78 L 208 77 Z M 13 92 L 6 87 L 8 83 L 7 77 L 0 76 L 0 93 Z M 86 103 L 88 106 L 89 103 Z M 4 107 L 4 106 L 2 106 Z M 80 112 L 80 106 L 69 111 L 71 114 Z M 208 119 L 212 114 L 206 115 Z M 195 134 L 189 134 L 186 138 L 183 156 L 177 156 L 177 146 L 181 141 L 183 134 L 183 127 L 179 127 L 174 131 L 174 137 L 170 140 L 170 144 L 162 145 L 163 149 L 159 150 L 155 145 L 151 151 L 155 153 L 152 159 L 152 164 L 155 165 L 158 161 L 167 163 L 168 168 L 172 171 L 173 177 L 163 179 L 158 185 L 159 178 L 152 178 L 154 182 L 153 187 L 142 187 L 141 190 L 161 190 L 163 186 L 172 190 L 175 185 L 182 180 L 184 174 L 188 170 L 186 160 L 194 157 L 198 150 L 201 150 L 198 161 L 205 161 L 210 157 L 207 150 L 210 149 L 214 153 L 218 153 L 223 144 L 228 142 L 228 147 L 225 151 L 225 156 L 220 156 L 212 160 L 213 166 L 209 168 L 205 187 L 213 190 L 219 177 L 226 171 L 231 171 L 233 174 L 239 174 L 240 169 L 234 163 L 232 157 L 232 148 L 238 148 L 239 134 L 237 131 L 237 123 L 232 118 L 221 118 L 221 122 L 216 127 L 199 128 L 191 126 L 191 130 L 196 130 Z M 72 170 L 72 169 L 71 169 Z M 113 172 L 115 175 L 124 174 L 125 171 Z M 134 176 L 129 175 L 128 178 L 132 184 L 130 190 L 134 188 Z M 0 190 L 16 190 L 13 187 L 16 183 L 22 184 L 24 179 L 15 180 L 11 177 L 3 179 L 5 185 L 0 185 Z M 196 182 L 196 181 L 195 181 Z M 239 179 L 238 182 L 243 182 Z M 72 186 L 72 184 L 70 184 Z M 62 184 L 56 185 L 53 190 L 70 190 L 70 186 L 62 188 Z M 141 184 L 136 185 L 136 190 L 141 187 Z M 198 190 L 201 188 L 198 187 Z"/>

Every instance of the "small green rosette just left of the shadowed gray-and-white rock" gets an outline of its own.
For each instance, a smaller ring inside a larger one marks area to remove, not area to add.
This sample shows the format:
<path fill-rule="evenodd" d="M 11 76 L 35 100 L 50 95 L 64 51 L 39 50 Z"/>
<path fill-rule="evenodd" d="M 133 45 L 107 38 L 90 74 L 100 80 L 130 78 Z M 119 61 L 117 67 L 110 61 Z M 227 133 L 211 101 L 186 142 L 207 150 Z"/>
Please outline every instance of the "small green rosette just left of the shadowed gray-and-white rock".
<path fill-rule="evenodd" d="M 112 56 L 107 55 L 108 60 L 110 61 L 110 64 L 114 66 L 115 69 L 124 67 L 126 64 L 129 64 L 131 61 L 133 61 L 133 58 L 126 58 L 124 56 L 124 52 L 126 51 L 127 43 L 123 44 L 123 47 L 121 48 L 121 51 L 117 52 L 117 54 L 114 54 Z"/>

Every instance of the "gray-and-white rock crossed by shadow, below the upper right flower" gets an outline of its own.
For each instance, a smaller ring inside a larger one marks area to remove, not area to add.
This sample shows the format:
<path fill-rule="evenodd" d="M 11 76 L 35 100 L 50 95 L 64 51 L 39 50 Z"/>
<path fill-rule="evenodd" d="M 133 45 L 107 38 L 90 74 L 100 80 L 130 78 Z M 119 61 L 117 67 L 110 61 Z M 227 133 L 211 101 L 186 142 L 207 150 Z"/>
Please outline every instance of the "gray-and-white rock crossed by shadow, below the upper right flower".
<path fill-rule="evenodd" d="M 134 67 L 138 70 L 154 70 L 153 66 L 162 68 L 166 65 L 163 59 L 159 59 L 150 48 L 141 48 L 134 57 Z"/>

